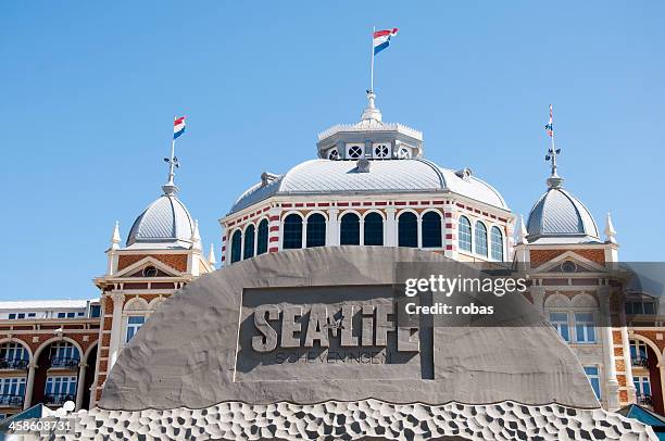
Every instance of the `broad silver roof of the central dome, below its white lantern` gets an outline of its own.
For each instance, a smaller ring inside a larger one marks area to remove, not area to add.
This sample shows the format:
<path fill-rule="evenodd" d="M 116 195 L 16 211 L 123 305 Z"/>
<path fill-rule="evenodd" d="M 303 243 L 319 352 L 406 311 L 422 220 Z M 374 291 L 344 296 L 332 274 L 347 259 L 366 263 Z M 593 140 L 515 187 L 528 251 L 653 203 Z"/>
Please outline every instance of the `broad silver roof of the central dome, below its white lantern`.
<path fill-rule="evenodd" d="M 236 200 L 229 214 L 273 196 L 294 194 L 386 194 L 451 191 L 509 210 L 501 194 L 474 176 L 465 178 L 454 171 L 423 160 L 371 161 L 367 173 L 357 171 L 355 161 L 311 160 L 273 180 L 259 182 Z"/>

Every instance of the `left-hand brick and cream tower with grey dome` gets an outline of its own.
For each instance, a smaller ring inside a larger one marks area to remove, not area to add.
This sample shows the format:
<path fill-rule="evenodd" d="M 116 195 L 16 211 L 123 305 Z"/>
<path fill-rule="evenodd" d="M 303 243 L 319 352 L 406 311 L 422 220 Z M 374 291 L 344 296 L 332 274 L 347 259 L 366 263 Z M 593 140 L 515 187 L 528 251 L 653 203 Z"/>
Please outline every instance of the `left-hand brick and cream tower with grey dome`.
<path fill-rule="evenodd" d="M 214 270 L 213 248 L 204 257 L 198 222 L 178 199 L 173 179 L 172 166 L 162 196 L 136 218 L 124 247 L 115 224 L 106 273 L 95 278 L 101 325 L 92 404 L 122 348 L 160 304 L 193 278 Z"/>

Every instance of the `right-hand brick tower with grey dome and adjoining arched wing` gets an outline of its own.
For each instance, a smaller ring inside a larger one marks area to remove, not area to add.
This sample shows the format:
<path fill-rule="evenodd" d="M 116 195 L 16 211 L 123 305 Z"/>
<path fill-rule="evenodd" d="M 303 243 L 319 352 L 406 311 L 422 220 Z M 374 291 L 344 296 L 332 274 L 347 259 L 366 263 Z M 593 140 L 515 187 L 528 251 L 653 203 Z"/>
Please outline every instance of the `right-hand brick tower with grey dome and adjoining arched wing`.
<path fill-rule="evenodd" d="M 515 245 L 532 278 L 530 300 L 569 343 L 604 407 L 640 403 L 663 414 L 663 328 L 656 301 L 632 292 L 620 270 L 610 214 L 604 238 L 586 205 L 564 189 L 556 154 L 547 191 L 523 222 Z M 643 326 L 636 326 L 642 319 Z M 645 319 L 645 323 L 644 323 Z"/>

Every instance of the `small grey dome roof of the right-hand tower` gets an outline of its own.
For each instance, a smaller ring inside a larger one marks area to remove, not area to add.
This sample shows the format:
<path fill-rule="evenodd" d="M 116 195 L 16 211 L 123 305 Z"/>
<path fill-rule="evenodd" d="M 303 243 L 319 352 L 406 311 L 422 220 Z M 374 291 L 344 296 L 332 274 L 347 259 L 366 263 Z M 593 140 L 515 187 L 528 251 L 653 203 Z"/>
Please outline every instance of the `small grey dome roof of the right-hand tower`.
<path fill-rule="evenodd" d="M 559 186 L 551 186 L 536 202 L 527 220 L 527 239 L 569 238 L 600 241 L 593 216 L 579 199 Z"/>

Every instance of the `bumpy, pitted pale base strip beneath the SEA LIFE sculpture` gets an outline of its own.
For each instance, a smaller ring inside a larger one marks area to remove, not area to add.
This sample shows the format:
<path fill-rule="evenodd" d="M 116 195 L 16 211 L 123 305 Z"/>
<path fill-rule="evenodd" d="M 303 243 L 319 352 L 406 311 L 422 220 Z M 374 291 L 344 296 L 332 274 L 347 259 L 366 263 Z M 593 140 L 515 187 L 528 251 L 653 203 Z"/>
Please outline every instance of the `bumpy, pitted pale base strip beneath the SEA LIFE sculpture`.
<path fill-rule="evenodd" d="M 603 410 L 559 404 L 319 404 L 225 402 L 201 410 L 92 410 L 71 415 L 70 434 L 51 440 L 651 440 L 652 429 Z M 37 438 L 35 438 L 37 439 Z"/>

